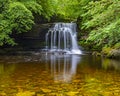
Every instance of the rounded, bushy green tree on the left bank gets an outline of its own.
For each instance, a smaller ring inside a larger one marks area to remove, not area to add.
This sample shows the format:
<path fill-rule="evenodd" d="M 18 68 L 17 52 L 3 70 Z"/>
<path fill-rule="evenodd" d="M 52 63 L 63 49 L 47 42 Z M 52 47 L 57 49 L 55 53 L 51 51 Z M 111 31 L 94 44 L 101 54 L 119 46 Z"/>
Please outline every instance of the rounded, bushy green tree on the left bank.
<path fill-rule="evenodd" d="M 31 11 L 20 2 L 10 3 L 8 9 L 3 11 L 0 17 L 0 46 L 15 45 L 14 39 L 10 37 L 12 32 L 26 32 L 34 23 Z"/>

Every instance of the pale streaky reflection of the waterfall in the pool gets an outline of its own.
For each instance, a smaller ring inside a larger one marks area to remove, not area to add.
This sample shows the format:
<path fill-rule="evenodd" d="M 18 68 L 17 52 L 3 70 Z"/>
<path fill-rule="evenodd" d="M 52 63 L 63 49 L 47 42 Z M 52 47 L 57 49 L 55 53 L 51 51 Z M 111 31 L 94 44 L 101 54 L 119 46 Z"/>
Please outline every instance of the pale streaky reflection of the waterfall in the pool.
<path fill-rule="evenodd" d="M 54 76 L 54 81 L 70 82 L 76 74 L 80 56 L 52 54 L 47 55 L 46 60 L 50 61 L 51 75 Z"/>

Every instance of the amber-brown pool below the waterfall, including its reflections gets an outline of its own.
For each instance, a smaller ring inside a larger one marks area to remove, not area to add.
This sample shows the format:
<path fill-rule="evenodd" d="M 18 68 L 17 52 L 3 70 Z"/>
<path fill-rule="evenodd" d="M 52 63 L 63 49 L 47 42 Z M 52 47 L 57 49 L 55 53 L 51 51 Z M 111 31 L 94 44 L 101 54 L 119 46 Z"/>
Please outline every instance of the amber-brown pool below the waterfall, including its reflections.
<path fill-rule="evenodd" d="M 120 61 L 91 55 L 0 56 L 0 96 L 120 96 Z"/>

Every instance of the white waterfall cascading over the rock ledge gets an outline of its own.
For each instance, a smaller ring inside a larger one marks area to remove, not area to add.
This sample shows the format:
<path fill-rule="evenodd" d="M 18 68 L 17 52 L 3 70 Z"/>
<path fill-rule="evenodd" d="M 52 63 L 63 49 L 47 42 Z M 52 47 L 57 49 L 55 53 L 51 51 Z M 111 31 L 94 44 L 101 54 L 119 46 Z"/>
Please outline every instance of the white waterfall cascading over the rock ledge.
<path fill-rule="evenodd" d="M 46 49 L 51 52 L 81 54 L 76 33 L 75 23 L 56 23 L 46 34 Z"/>

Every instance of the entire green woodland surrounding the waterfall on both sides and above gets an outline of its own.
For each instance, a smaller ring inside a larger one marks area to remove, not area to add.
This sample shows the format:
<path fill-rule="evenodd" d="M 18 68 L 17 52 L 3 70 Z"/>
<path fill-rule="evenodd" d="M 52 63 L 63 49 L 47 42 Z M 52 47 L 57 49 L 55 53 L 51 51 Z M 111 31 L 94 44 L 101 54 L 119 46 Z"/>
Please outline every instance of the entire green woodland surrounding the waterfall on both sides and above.
<path fill-rule="evenodd" d="M 16 45 L 11 35 L 28 32 L 37 18 L 76 22 L 85 47 L 120 49 L 120 0 L 0 0 L 0 46 Z"/>

